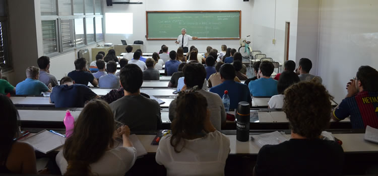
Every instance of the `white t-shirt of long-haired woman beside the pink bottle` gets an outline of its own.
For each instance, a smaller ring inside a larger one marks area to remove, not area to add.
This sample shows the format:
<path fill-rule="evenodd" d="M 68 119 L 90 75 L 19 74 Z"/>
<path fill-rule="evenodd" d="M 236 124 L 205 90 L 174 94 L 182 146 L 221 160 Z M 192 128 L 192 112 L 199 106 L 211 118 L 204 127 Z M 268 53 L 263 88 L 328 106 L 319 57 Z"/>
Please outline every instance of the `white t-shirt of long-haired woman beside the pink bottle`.
<path fill-rule="evenodd" d="M 134 147 L 117 147 L 105 151 L 104 155 L 95 163 L 89 164 L 92 173 L 98 175 L 124 175 L 135 163 L 137 150 Z M 67 171 L 67 160 L 63 151 L 59 151 L 55 158 L 61 174 Z"/>

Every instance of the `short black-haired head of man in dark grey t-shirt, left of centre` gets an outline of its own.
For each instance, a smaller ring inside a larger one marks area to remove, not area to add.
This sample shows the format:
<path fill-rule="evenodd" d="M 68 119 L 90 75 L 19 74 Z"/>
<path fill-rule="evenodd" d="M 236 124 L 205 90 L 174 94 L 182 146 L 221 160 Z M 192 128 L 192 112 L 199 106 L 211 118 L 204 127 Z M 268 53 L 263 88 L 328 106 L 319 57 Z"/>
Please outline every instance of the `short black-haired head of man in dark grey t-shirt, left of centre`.
<path fill-rule="evenodd" d="M 119 78 L 123 89 L 133 94 L 142 86 L 143 72 L 138 65 L 127 64 L 121 69 Z"/>

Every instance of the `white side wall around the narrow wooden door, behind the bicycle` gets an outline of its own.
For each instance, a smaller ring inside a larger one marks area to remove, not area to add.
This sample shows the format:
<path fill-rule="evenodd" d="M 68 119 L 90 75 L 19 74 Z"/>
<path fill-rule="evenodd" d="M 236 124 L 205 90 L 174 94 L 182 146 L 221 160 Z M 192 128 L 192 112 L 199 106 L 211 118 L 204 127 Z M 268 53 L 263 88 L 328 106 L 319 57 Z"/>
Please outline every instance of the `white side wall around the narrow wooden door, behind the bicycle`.
<path fill-rule="evenodd" d="M 277 4 L 276 4 L 277 3 Z M 276 13 L 275 13 L 276 12 Z M 284 62 L 285 23 L 290 22 L 289 60 L 295 60 L 298 0 L 255 0 L 253 11 L 253 50 Z M 272 40 L 276 39 L 276 44 Z"/>

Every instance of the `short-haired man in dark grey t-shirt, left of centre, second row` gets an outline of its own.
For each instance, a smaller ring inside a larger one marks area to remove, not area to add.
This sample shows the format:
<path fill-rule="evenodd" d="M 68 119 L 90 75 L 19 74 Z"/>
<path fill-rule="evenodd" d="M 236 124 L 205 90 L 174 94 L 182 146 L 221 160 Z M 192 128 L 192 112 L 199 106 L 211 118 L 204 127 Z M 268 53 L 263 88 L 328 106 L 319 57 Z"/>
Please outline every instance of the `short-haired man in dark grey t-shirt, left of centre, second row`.
<path fill-rule="evenodd" d="M 136 64 L 127 64 L 120 72 L 124 97 L 110 104 L 115 120 L 128 125 L 131 130 L 156 130 L 162 123 L 160 105 L 141 95 L 142 70 Z"/>

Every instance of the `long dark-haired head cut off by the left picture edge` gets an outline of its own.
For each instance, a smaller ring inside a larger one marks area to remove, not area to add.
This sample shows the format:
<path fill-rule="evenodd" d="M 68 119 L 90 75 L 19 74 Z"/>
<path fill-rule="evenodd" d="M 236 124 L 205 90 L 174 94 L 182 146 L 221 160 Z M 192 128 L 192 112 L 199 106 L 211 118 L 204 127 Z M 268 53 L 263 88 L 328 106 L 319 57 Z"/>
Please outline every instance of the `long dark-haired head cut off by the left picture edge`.
<path fill-rule="evenodd" d="M 6 163 L 14 143 L 13 138 L 19 131 L 19 114 L 12 101 L 2 94 L 0 94 L 0 105 L 2 112 L 2 118 L 0 118 L 0 162 Z"/>

